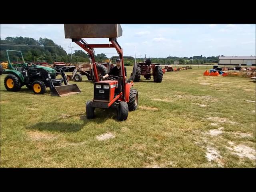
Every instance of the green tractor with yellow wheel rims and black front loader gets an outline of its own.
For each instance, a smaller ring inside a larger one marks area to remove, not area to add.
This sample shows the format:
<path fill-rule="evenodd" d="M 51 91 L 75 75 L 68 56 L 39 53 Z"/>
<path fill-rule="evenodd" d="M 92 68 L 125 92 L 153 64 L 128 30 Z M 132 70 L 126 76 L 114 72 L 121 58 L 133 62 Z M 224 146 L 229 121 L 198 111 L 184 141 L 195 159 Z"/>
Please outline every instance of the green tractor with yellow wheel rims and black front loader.
<path fill-rule="evenodd" d="M 7 91 L 19 91 L 24 85 L 32 89 L 35 94 L 44 94 L 46 87 L 49 87 L 53 94 L 58 96 L 66 96 L 70 94 L 80 93 L 80 89 L 76 84 L 68 84 L 66 74 L 58 68 L 50 68 L 38 66 L 35 64 L 28 65 L 25 63 L 22 53 L 16 50 L 7 50 L 8 69 L 4 70 L 4 74 L 8 74 L 4 78 L 4 86 Z M 10 62 L 9 53 L 18 53 L 22 58 L 22 64 Z M 60 74 L 62 78 L 56 79 Z M 64 82 L 65 85 L 62 85 Z"/>

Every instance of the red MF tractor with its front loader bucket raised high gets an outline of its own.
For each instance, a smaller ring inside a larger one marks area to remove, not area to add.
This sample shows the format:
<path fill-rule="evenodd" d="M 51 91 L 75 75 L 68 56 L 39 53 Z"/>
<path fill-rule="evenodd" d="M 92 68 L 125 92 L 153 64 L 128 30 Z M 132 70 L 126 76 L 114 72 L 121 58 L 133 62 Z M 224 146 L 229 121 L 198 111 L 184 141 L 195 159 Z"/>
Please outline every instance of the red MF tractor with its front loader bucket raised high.
<path fill-rule="evenodd" d="M 64 24 L 65 38 L 71 38 L 88 52 L 92 64 L 92 79 L 94 82 L 94 95 L 91 101 L 86 102 L 86 117 L 94 118 L 95 108 L 116 108 L 117 119 L 126 120 L 128 111 L 138 107 L 138 91 L 133 89 L 134 76 L 125 78 L 123 50 L 116 38 L 122 36 L 120 24 Z M 108 38 L 111 44 L 88 44 L 82 38 Z M 121 60 L 121 74 L 108 76 L 107 80 L 100 78 L 97 70 L 94 48 L 115 48 Z"/>

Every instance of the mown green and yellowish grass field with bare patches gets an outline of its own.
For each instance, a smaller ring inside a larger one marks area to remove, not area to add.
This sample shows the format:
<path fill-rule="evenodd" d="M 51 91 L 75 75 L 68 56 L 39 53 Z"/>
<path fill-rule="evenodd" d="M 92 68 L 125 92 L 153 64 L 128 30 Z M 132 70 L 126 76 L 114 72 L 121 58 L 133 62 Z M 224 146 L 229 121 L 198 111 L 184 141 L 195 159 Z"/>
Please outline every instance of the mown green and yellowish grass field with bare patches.
<path fill-rule="evenodd" d="M 162 83 L 142 76 L 138 110 L 124 122 L 114 109 L 86 119 L 93 84 L 85 76 L 82 93 L 61 98 L 49 88 L 7 92 L 2 75 L 0 166 L 255 168 L 256 84 L 204 70 L 166 72 Z"/>

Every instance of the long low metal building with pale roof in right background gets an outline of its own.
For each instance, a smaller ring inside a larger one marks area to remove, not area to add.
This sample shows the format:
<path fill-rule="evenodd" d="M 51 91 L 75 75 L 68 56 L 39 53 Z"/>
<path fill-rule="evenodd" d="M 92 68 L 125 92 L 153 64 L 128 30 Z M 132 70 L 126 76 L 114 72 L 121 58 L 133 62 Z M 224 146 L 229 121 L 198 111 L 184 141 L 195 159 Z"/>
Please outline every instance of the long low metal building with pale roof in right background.
<path fill-rule="evenodd" d="M 256 57 L 219 57 L 218 65 L 238 65 L 238 66 L 255 66 Z"/>

